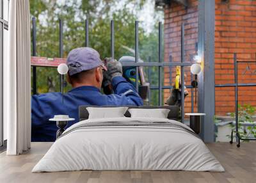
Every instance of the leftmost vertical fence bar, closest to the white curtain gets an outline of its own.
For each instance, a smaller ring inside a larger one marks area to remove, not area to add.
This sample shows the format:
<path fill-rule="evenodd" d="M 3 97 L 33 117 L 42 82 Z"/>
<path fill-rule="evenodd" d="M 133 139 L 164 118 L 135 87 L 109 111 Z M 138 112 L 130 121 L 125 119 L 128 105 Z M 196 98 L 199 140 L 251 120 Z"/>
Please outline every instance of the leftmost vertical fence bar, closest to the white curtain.
<path fill-rule="evenodd" d="M 32 55 L 36 56 L 36 18 L 32 18 Z M 33 67 L 33 95 L 36 95 L 36 67 Z"/>

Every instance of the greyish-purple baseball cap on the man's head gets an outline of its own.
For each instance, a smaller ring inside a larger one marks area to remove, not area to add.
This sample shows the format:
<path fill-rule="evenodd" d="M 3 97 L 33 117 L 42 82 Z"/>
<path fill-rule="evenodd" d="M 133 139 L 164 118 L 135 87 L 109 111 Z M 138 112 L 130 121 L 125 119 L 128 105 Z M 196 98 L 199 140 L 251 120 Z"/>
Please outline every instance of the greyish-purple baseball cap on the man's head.
<path fill-rule="evenodd" d="M 90 47 L 78 47 L 68 53 L 67 58 L 68 74 L 70 76 L 82 72 L 83 70 L 91 70 L 100 65 L 106 70 L 103 62 L 100 60 L 99 52 Z"/>

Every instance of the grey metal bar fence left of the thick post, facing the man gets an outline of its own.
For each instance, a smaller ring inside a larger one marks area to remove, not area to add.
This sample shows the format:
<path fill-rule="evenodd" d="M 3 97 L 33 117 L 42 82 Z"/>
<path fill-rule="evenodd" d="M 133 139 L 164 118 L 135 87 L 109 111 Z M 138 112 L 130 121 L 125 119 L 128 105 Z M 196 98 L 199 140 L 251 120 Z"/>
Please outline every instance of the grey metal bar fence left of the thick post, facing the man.
<path fill-rule="evenodd" d="M 51 61 L 47 61 L 47 58 L 36 58 L 36 19 L 35 17 L 33 17 L 32 19 L 32 23 L 33 23 L 33 57 L 31 58 L 31 66 L 33 67 L 33 94 L 36 94 L 36 67 L 40 66 L 40 67 L 56 67 L 58 66 L 56 63 L 65 63 L 65 59 L 61 58 L 63 56 L 63 25 L 62 25 L 62 21 L 59 20 L 59 28 L 60 28 L 60 34 L 59 34 L 59 52 L 60 52 L 60 58 L 54 58 L 54 65 L 51 65 L 50 62 Z M 84 29 L 85 29 L 85 42 L 84 45 L 86 47 L 89 47 L 89 22 L 88 20 L 85 20 L 84 22 Z M 181 38 L 180 38 L 180 44 L 181 44 L 181 56 L 180 56 L 180 62 L 173 62 L 172 61 L 172 56 L 170 56 L 169 61 L 168 62 L 163 62 L 163 58 L 162 58 L 162 22 L 158 23 L 158 62 L 139 62 L 139 36 L 138 36 L 138 25 L 139 22 L 136 20 L 134 22 L 134 31 L 135 31 L 135 62 L 131 63 L 131 62 L 122 62 L 123 66 L 131 66 L 131 67 L 136 67 L 136 90 L 138 91 L 139 88 L 139 67 L 148 67 L 148 83 L 151 83 L 152 79 L 151 79 L 151 72 L 150 72 L 150 67 L 158 67 L 158 86 L 151 86 L 149 88 L 149 92 L 148 92 L 148 99 L 150 99 L 151 96 L 151 92 L 150 90 L 158 90 L 158 105 L 161 106 L 162 103 L 162 90 L 166 90 L 166 89 L 172 89 L 172 67 L 176 67 L 179 66 L 180 70 L 181 70 L 181 93 L 182 93 L 182 97 L 181 97 L 181 121 L 182 123 L 184 123 L 184 67 L 190 67 L 191 63 L 190 62 L 186 62 L 185 61 L 185 53 L 184 53 L 184 23 L 182 23 L 181 25 Z M 115 58 L 115 22 L 113 20 L 111 20 L 110 22 L 110 40 L 111 40 L 111 47 L 110 47 L 110 51 L 111 51 L 111 57 Z M 150 56 L 148 57 L 150 60 Z M 44 60 L 44 63 L 38 63 L 36 60 Z M 170 68 L 170 85 L 169 86 L 163 86 L 162 82 L 163 82 L 163 78 L 162 78 L 162 70 L 163 67 L 169 67 Z M 192 78 L 192 74 L 191 74 L 191 78 Z M 193 88 L 191 85 L 186 86 L 186 88 Z M 60 88 L 61 90 L 61 88 Z M 193 104 L 193 92 L 191 92 L 191 102 Z M 150 104 L 150 101 L 148 102 Z M 194 105 L 191 105 L 191 111 L 193 111 Z"/>

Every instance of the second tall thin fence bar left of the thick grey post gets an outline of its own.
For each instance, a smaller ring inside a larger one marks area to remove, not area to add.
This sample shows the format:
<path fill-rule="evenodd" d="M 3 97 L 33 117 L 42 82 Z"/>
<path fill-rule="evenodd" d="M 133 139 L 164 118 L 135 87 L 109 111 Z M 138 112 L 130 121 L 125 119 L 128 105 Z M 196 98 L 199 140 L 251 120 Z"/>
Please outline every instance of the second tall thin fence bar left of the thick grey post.
<path fill-rule="evenodd" d="M 158 62 L 162 61 L 162 22 L 158 22 Z M 162 72 L 163 68 L 158 67 L 158 105 L 162 105 Z"/>

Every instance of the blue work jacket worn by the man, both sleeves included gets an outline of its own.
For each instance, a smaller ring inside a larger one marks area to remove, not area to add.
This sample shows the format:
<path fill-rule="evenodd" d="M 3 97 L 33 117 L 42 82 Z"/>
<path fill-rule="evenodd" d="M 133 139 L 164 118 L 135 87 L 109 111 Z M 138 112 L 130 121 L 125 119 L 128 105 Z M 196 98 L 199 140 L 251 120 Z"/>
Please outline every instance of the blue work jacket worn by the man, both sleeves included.
<path fill-rule="evenodd" d="M 49 121 L 54 115 L 68 115 L 76 120 L 67 127 L 79 122 L 79 106 L 141 106 L 143 101 L 134 86 L 124 77 L 112 80 L 115 94 L 104 95 L 94 86 L 80 86 L 62 95 L 60 92 L 33 95 L 31 99 L 31 141 L 55 141 L 58 127 Z"/>

